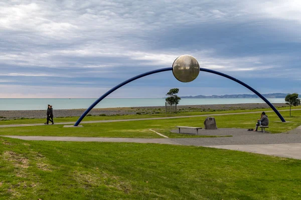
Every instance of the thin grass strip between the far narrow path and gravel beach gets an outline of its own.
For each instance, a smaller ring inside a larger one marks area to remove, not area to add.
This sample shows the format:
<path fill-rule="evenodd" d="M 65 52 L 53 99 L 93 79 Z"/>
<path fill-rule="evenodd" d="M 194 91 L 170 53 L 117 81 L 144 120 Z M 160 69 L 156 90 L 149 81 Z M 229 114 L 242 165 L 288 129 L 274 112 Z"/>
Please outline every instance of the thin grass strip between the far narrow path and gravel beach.
<path fill-rule="evenodd" d="M 289 109 L 289 107 L 281 107 L 278 110 Z M 292 107 L 292 109 L 301 109 L 301 106 Z M 122 116 L 86 116 L 83 121 L 98 121 L 98 120 L 115 120 L 115 119 L 140 119 L 140 118 L 155 118 L 155 117 L 174 117 L 174 116 L 189 116 L 189 115 L 206 115 L 206 114 L 224 114 L 224 113 L 240 113 L 240 112 L 262 112 L 272 111 L 272 109 L 252 109 L 252 110 L 228 110 L 228 111 L 211 111 L 211 112 L 180 112 L 177 114 L 152 114 L 152 115 L 122 115 Z M 54 111 L 55 112 L 55 111 Z M 294 115 L 295 111 L 292 111 Z M 78 117 L 54 118 L 55 123 L 58 122 L 75 122 Z M 16 120 L 0 120 L 0 125 L 6 124 L 35 124 L 44 123 L 45 119 L 16 119 Z"/>

